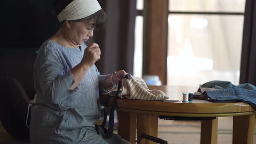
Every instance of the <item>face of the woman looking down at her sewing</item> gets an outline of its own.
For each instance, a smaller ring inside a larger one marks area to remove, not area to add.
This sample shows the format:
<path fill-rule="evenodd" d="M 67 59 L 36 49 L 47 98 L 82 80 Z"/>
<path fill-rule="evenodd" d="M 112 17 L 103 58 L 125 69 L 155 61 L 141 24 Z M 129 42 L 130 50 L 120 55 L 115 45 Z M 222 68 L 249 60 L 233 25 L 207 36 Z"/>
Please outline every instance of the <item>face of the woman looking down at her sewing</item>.
<path fill-rule="evenodd" d="M 82 45 L 93 36 L 94 27 L 86 22 L 69 21 L 67 37 L 74 45 Z"/>

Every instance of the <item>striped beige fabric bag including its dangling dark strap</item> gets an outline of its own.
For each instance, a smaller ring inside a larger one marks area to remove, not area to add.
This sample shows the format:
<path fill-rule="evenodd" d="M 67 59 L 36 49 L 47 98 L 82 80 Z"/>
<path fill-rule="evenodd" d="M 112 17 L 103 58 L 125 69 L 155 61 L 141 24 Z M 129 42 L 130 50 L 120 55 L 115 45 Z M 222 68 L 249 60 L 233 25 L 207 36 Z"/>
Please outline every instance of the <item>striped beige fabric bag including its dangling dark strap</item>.
<path fill-rule="evenodd" d="M 122 90 L 121 90 L 122 85 Z M 109 120 L 108 120 L 108 129 L 105 128 L 107 121 L 107 105 L 110 97 L 113 96 Z M 130 74 L 125 75 L 122 81 L 118 83 L 118 89 L 112 90 L 108 93 L 105 99 L 105 108 L 104 108 L 104 119 L 100 127 L 103 129 L 105 136 L 111 138 L 113 135 L 114 128 L 114 111 L 116 106 L 117 98 L 129 98 L 129 99 L 141 99 L 141 100 L 164 100 L 167 97 L 164 92 L 160 90 L 149 90 L 146 83 L 137 77 L 134 77 Z"/>

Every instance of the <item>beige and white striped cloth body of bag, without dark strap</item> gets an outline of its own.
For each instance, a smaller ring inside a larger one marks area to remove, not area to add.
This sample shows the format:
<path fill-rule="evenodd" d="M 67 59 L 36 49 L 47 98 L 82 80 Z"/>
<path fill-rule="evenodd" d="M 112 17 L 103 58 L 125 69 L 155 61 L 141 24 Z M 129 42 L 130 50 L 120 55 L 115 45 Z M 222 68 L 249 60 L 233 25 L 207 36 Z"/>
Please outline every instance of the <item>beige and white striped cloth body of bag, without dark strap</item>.
<path fill-rule="evenodd" d="M 114 96 L 117 89 L 112 90 L 109 95 Z M 122 79 L 122 89 L 118 96 L 120 98 L 141 99 L 141 100 L 164 100 L 169 97 L 160 90 L 149 90 L 146 83 L 138 77 L 131 76 L 131 79 Z"/>

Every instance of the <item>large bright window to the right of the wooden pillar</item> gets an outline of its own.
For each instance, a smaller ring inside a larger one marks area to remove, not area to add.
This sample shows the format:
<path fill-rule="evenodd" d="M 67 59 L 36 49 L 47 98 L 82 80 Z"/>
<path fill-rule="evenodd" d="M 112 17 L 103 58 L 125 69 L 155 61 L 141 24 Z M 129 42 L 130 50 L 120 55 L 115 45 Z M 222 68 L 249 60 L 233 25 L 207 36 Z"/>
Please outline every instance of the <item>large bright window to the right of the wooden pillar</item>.
<path fill-rule="evenodd" d="M 239 84 L 245 0 L 169 0 L 167 85 Z"/>

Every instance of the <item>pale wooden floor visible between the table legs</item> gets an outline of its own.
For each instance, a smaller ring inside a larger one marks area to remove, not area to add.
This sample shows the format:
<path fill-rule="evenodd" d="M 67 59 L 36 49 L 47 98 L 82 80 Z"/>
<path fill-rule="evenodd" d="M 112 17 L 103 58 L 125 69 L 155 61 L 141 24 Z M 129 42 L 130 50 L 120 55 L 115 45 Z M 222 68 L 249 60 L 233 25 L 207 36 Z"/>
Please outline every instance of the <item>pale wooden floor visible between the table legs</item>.
<path fill-rule="evenodd" d="M 158 137 L 168 144 L 200 144 L 200 121 L 158 121 Z M 218 144 L 232 144 L 232 117 L 220 117 L 218 127 Z M 117 133 L 117 131 L 114 131 Z M 0 125 L 0 142 L 14 141 Z M 254 127 L 253 144 L 256 144 Z"/>

